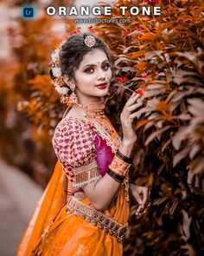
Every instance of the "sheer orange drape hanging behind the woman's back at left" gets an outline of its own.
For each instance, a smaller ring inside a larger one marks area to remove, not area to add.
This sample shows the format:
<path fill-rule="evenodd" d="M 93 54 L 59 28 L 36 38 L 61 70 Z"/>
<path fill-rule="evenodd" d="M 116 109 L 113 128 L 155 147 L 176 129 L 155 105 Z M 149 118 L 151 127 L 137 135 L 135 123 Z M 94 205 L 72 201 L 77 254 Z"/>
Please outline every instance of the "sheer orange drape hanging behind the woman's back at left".
<path fill-rule="evenodd" d="M 41 239 L 41 233 L 45 227 L 48 226 L 51 220 L 54 220 L 61 207 L 66 204 L 67 194 L 65 190 L 67 190 L 67 177 L 62 170 L 61 162 L 57 161 L 54 174 L 41 195 L 41 199 L 35 208 L 35 213 L 23 235 L 16 253 L 17 256 L 32 254 L 32 250 L 38 240 Z"/>

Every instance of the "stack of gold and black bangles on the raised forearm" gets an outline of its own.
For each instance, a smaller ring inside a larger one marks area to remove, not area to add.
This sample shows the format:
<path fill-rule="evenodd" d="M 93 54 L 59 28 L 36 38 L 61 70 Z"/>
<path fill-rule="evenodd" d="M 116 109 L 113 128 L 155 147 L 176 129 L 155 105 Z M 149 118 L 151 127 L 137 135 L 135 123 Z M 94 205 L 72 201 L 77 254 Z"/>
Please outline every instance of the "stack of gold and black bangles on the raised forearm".
<path fill-rule="evenodd" d="M 109 166 L 107 174 L 109 174 L 115 181 L 122 183 L 131 167 L 131 163 L 131 158 L 125 156 L 118 150 L 112 160 L 111 165 Z"/>

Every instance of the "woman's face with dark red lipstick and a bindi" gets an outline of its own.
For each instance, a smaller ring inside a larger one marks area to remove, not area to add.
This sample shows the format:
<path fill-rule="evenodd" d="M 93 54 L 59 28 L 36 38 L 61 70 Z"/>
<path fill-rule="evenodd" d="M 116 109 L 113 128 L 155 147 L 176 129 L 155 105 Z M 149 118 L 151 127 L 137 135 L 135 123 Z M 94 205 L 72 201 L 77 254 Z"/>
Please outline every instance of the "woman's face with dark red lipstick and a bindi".
<path fill-rule="evenodd" d="M 112 79 L 111 63 L 103 49 L 92 49 L 74 72 L 75 93 L 80 104 L 97 102 L 107 95 Z"/>

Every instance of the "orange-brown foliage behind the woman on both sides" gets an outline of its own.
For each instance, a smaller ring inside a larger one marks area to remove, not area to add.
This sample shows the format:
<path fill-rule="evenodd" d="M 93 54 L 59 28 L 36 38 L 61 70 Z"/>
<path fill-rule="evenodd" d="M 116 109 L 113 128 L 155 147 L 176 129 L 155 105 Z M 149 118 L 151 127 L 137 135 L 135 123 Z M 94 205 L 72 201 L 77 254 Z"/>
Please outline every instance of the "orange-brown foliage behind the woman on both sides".
<path fill-rule="evenodd" d="M 112 16 L 119 17 L 119 6 L 153 8 L 158 1 L 110 4 Z M 159 4 L 161 16 L 131 16 L 131 23 L 90 27 L 118 56 L 117 78 L 106 109 L 118 133 L 119 113 L 129 89 L 143 94 L 144 104 L 135 122 L 138 142 L 131 181 L 150 187 L 151 207 L 136 217 L 137 206 L 131 200 L 131 229 L 124 255 L 201 255 L 204 4 L 193 0 Z M 54 26 L 61 23 L 64 34 L 56 35 Z M 0 151 L 45 187 L 56 161 L 50 138 L 64 111 L 49 82 L 49 56 L 75 27 L 72 20 L 42 15 L 30 23 L 19 19 L 16 28 L 9 30 L 13 62 L 3 61 L 1 70 Z"/>

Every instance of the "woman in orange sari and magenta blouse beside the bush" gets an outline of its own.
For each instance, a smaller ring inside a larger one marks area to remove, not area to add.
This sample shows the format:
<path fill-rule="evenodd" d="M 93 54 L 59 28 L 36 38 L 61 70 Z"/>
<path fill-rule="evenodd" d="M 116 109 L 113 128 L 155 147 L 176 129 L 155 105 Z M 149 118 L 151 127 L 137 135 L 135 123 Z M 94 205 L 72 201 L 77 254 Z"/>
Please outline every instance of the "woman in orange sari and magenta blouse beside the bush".
<path fill-rule="evenodd" d="M 131 111 L 141 103 L 136 94 L 126 102 L 121 141 L 104 114 L 113 70 L 107 45 L 89 33 L 73 34 L 52 59 L 53 83 L 69 111 L 54 132 L 59 161 L 17 255 L 122 255 L 137 141 Z M 143 209 L 147 188 L 131 190 Z"/>

